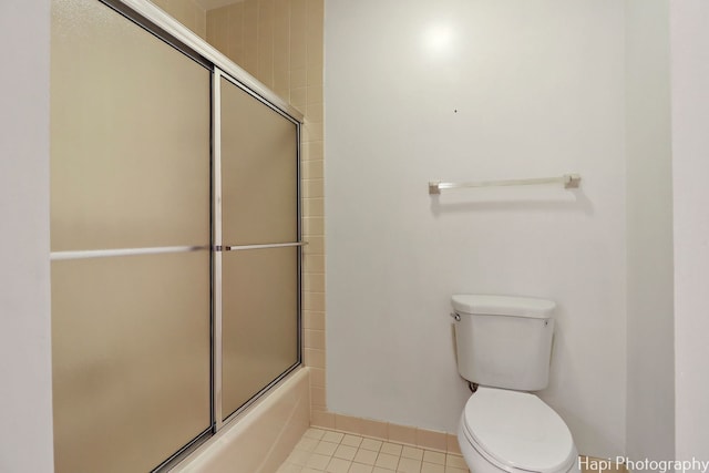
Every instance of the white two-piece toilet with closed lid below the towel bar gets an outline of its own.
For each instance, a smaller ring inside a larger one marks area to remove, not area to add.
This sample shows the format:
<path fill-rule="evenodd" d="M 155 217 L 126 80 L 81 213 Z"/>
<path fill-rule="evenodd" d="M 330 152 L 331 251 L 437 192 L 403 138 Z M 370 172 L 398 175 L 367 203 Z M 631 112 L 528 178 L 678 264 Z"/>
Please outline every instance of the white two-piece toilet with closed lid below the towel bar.
<path fill-rule="evenodd" d="M 578 452 L 562 418 L 527 391 L 546 388 L 556 304 L 456 295 L 458 370 L 477 385 L 458 430 L 471 473 L 577 473 Z"/>

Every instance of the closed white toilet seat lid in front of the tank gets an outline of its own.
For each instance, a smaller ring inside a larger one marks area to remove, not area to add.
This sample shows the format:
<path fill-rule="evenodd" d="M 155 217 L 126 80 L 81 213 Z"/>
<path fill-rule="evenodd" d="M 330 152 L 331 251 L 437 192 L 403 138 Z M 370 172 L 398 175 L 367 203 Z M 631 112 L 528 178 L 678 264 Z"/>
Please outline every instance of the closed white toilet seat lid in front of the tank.
<path fill-rule="evenodd" d="M 465 404 L 461 430 L 482 456 L 508 472 L 566 472 L 577 457 L 562 418 L 527 392 L 479 388 Z"/>

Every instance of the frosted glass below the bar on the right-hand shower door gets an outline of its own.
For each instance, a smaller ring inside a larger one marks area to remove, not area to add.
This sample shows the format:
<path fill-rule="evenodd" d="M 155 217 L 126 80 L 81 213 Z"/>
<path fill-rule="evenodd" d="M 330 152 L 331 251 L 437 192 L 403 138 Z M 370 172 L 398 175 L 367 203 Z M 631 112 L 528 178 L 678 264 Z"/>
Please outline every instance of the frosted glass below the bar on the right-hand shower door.
<path fill-rule="evenodd" d="M 224 254 L 224 418 L 298 361 L 298 251 Z"/>

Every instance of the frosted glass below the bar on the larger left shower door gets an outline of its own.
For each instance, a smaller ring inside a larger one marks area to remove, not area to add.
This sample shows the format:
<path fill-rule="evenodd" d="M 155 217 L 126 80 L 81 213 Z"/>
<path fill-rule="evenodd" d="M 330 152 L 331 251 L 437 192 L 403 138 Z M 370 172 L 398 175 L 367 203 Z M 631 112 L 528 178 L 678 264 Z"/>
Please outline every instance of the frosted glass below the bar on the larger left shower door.
<path fill-rule="evenodd" d="M 209 428 L 208 251 L 51 276 L 58 473 L 146 472 Z"/>

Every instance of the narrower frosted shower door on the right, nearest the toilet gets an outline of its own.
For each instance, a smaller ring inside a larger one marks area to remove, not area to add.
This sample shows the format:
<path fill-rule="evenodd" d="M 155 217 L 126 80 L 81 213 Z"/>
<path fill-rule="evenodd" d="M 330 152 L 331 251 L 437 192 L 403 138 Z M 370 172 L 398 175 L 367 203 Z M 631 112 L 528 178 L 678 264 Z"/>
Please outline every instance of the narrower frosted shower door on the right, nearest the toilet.
<path fill-rule="evenodd" d="M 297 123 L 220 79 L 222 419 L 298 363 Z"/>

